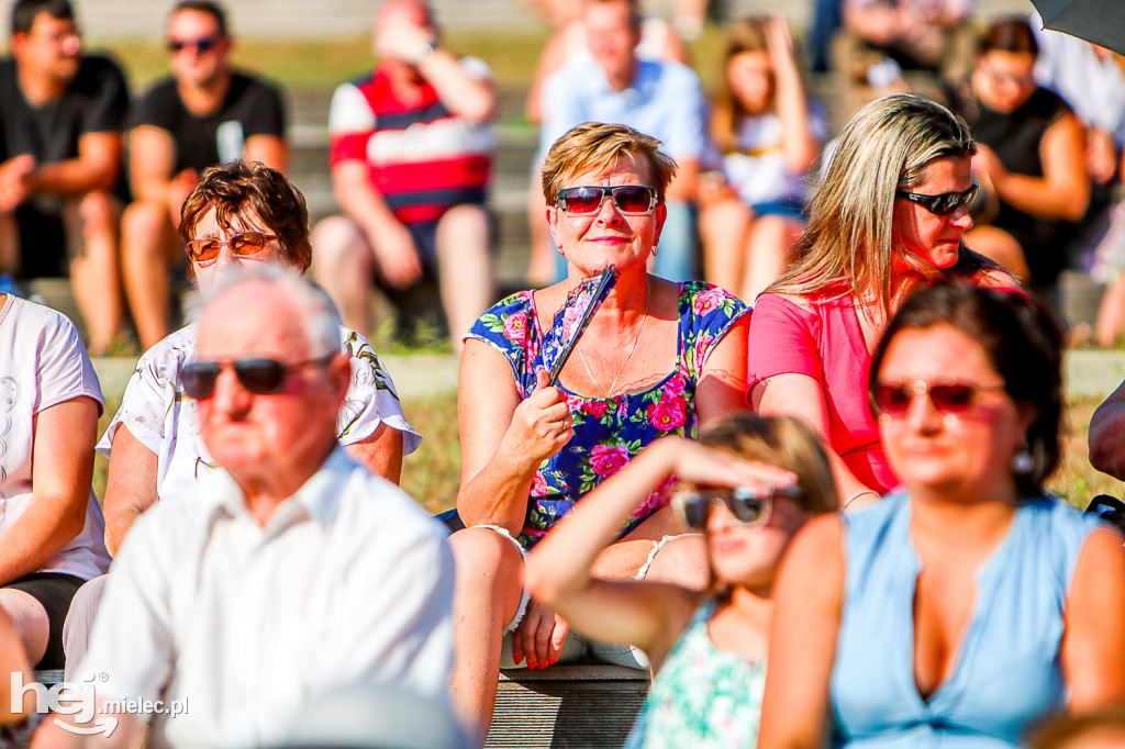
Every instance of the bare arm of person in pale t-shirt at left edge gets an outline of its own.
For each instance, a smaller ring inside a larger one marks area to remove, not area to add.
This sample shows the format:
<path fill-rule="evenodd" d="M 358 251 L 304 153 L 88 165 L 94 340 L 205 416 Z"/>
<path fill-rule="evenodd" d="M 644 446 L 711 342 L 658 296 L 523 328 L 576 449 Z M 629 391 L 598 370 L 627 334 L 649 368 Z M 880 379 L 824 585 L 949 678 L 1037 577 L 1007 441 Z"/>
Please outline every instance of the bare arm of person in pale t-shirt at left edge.
<path fill-rule="evenodd" d="M 80 396 L 34 417 L 32 505 L 0 538 L 0 584 L 38 570 L 86 524 L 99 405 Z"/>

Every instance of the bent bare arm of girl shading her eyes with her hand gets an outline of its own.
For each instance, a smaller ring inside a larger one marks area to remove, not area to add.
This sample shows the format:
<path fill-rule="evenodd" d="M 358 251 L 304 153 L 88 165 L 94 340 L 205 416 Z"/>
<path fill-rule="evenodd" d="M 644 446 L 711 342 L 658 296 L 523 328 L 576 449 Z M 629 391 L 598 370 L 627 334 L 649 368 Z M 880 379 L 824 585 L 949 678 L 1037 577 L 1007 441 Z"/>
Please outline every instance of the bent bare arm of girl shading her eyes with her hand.
<path fill-rule="evenodd" d="M 654 669 L 691 621 L 698 594 L 659 583 L 596 579 L 591 567 L 618 538 L 629 512 L 673 473 L 711 486 L 788 486 L 795 479 L 789 471 L 696 442 L 659 440 L 587 495 L 536 545 L 524 576 L 531 594 L 572 625 L 597 640 L 640 648 Z"/>

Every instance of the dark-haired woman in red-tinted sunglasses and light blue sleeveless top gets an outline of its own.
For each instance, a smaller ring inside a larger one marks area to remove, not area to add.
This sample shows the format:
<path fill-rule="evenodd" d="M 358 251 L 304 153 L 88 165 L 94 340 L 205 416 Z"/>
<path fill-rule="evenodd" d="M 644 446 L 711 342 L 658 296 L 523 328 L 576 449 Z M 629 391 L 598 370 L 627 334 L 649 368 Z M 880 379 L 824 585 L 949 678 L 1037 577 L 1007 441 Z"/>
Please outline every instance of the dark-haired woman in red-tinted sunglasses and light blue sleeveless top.
<path fill-rule="evenodd" d="M 1125 696 L 1125 549 L 1044 494 L 1061 333 L 1023 294 L 935 286 L 868 394 L 904 489 L 810 523 L 781 574 L 760 747 L 1015 747 Z"/>

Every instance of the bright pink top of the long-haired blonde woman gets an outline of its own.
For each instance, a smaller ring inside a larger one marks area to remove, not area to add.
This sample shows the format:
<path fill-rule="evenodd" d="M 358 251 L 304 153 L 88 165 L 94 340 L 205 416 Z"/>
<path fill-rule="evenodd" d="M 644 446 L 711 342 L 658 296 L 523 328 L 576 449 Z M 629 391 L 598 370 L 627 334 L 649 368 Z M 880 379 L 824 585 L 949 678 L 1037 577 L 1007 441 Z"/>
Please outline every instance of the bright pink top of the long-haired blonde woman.
<path fill-rule="evenodd" d="M 749 388 L 775 374 L 806 374 L 825 391 L 828 441 L 865 486 L 885 494 L 899 480 L 867 405 L 871 353 L 850 296 L 813 297 L 809 309 L 763 294 L 750 317 Z"/>

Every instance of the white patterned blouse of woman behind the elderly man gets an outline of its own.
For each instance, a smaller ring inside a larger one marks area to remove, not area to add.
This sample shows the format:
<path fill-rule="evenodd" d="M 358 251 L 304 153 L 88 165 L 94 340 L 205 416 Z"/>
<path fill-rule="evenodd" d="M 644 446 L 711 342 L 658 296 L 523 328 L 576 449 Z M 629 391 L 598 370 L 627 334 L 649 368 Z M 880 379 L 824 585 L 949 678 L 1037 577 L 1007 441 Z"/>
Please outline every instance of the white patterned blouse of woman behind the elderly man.
<path fill-rule="evenodd" d="M 340 349 L 351 357 L 352 364 L 351 387 L 336 425 L 340 444 L 362 442 L 386 422 L 403 433 L 403 454 L 414 452 L 422 437 L 403 416 L 395 383 L 367 339 L 341 326 Z M 180 368 L 195 350 L 195 323 L 148 349 L 137 361 L 122 406 L 98 443 L 98 451 L 108 458 L 117 427 L 126 425 L 141 444 L 156 453 L 159 497 L 177 482 L 195 481 L 216 468 L 199 433 L 196 401 L 180 385 Z"/>

